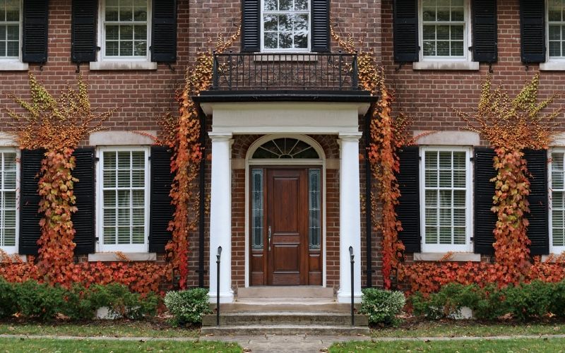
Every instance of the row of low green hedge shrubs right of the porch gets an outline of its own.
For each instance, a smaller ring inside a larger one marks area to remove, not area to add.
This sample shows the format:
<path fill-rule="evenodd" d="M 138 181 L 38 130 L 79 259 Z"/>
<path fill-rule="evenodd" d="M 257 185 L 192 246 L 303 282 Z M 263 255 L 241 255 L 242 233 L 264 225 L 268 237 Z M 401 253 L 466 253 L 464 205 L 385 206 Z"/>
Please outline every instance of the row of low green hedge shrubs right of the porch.
<path fill-rule="evenodd" d="M 549 314 L 565 318 L 565 281 L 552 283 L 535 280 L 505 288 L 494 284 L 481 288 L 450 283 L 428 296 L 414 294 L 410 301 L 416 316 L 429 319 L 460 316 L 464 306 L 470 308 L 473 317 L 480 320 L 495 320 L 505 315 L 521 321 Z"/>

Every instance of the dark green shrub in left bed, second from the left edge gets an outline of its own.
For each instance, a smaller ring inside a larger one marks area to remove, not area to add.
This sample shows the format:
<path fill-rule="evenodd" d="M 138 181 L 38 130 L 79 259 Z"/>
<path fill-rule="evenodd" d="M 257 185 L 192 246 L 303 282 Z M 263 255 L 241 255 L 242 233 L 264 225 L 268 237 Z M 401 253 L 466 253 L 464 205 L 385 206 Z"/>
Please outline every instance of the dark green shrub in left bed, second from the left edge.
<path fill-rule="evenodd" d="M 18 312 L 28 318 L 49 320 L 64 306 L 64 289 L 40 284 L 33 280 L 15 285 Z"/>

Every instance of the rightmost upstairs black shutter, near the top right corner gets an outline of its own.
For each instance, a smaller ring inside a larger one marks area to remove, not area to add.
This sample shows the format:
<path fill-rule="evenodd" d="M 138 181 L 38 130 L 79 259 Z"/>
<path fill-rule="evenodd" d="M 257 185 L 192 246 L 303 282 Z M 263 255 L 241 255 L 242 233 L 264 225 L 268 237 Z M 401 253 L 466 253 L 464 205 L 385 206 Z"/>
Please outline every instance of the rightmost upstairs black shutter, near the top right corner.
<path fill-rule="evenodd" d="M 520 0 L 522 61 L 545 61 L 545 1 Z"/>

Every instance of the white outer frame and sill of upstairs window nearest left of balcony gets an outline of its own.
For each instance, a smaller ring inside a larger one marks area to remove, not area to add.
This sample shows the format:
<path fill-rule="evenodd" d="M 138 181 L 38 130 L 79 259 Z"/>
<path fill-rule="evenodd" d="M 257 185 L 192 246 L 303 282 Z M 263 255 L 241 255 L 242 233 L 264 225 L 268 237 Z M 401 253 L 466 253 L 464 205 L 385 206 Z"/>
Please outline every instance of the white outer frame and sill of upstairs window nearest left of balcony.
<path fill-rule="evenodd" d="M 153 1 L 147 1 L 147 55 L 142 56 L 105 56 L 105 5 L 106 1 L 98 4 L 97 41 L 100 50 L 97 51 L 97 61 L 90 62 L 90 70 L 156 70 L 157 63 L 151 61 L 151 20 L 153 18 Z"/>

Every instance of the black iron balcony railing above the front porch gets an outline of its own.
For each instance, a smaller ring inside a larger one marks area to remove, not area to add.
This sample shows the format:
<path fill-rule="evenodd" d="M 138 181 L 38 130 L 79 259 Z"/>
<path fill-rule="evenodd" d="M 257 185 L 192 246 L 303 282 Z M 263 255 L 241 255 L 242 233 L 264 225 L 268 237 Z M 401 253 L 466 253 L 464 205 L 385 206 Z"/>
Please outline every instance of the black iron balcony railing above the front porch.
<path fill-rule="evenodd" d="M 214 54 L 214 91 L 357 91 L 357 54 Z"/>

